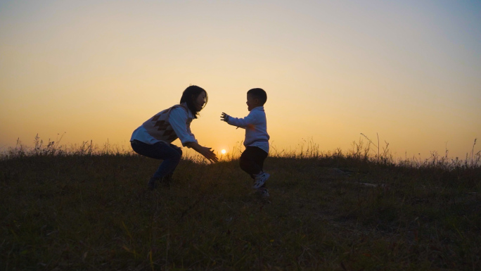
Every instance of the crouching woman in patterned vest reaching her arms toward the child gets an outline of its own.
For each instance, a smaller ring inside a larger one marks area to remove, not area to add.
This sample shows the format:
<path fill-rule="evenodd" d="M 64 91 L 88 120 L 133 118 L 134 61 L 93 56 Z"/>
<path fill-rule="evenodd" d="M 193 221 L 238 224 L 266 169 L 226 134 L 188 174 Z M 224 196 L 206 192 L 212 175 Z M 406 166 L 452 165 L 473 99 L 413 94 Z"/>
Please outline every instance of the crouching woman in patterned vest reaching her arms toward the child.
<path fill-rule="evenodd" d="M 202 87 L 187 87 L 180 104 L 155 114 L 132 134 L 130 144 L 136 153 L 163 160 L 148 181 L 149 189 L 155 189 L 158 181 L 169 184 L 172 180 L 172 174 L 182 156 L 181 148 L 172 144 L 177 138 L 180 139 L 182 146 L 194 149 L 211 162 L 217 162 L 214 151 L 200 146 L 191 132 L 191 122 L 197 118 L 207 100 L 207 92 Z"/>

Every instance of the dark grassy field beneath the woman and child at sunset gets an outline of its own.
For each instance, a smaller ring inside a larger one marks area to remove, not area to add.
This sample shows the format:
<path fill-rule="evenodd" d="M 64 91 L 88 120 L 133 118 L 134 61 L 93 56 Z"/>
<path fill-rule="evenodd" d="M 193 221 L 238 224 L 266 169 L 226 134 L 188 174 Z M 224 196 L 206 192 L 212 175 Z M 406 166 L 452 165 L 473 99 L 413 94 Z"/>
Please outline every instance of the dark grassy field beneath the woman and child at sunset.
<path fill-rule="evenodd" d="M 16 148 L 0 270 L 481 270 L 479 153 L 393 162 L 359 145 L 267 158 L 268 200 L 235 158 L 181 160 L 148 191 L 157 160 Z"/>

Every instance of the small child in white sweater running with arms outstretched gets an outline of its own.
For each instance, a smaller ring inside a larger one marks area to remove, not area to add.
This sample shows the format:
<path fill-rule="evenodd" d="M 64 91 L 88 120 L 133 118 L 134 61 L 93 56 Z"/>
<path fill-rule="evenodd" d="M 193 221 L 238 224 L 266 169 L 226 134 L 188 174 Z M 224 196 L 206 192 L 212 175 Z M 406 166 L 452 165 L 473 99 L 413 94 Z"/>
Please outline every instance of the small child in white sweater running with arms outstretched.
<path fill-rule="evenodd" d="M 248 172 L 254 179 L 254 186 L 262 197 L 269 196 L 265 182 L 269 179 L 269 173 L 262 170 L 264 160 L 269 153 L 269 134 L 267 134 L 267 120 L 264 112 L 264 103 L 267 94 L 264 89 L 250 89 L 247 93 L 247 105 L 249 115 L 245 118 L 233 118 L 222 113 L 221 120 L 229 125 L 245 129 L 244 146 L 240 159 L 241 169 Z"/>

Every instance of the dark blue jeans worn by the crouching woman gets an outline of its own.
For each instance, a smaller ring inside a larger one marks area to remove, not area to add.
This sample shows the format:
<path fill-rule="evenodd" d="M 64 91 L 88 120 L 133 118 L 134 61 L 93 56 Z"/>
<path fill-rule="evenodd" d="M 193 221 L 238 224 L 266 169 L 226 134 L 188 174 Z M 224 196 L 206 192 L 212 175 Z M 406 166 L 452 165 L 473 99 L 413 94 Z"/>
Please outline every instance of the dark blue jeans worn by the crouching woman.
<path fill-rule="evenodd" d="M 182 157 L 182 150 L 173 144 L 158 142 L 149 145 L 139 140 L 130 141 L 130 144 L 132 145 L 132 149 L 142 156 L 164 160 L 154 173 L 153 178 L 162 178 L 167 175 L 172 175 Z"/>

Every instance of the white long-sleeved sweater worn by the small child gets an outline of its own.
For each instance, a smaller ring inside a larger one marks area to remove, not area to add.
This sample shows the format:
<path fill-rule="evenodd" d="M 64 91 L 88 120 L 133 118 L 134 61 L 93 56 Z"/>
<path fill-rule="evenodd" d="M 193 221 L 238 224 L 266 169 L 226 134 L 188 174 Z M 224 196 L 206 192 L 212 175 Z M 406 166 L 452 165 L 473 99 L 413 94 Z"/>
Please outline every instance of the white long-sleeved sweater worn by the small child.
<path fill-rule="evenodd" d="M 229 115 L 227 123 L 245 129 L 244 146 L 256 146 L 269 153 L 269 134 L 264 106 L 253 108 L 245 118 L 233 118 Z"/>

